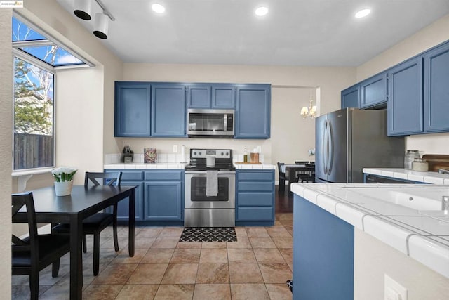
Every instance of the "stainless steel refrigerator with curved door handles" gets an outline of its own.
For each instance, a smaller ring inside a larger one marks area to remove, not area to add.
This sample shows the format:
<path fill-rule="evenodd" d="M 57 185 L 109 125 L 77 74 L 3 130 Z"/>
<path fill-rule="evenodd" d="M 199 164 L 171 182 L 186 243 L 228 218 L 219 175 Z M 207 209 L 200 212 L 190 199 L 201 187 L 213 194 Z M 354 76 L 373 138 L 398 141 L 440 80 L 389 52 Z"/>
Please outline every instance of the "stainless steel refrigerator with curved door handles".
<path fill-rule="evenodd" d="M 316 118 L 316 182 L 363 183 L 363 168 L 403 168 L 403 137 L 387 136 L 387 110 L 346 108 Z"/>

